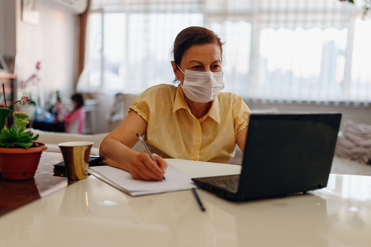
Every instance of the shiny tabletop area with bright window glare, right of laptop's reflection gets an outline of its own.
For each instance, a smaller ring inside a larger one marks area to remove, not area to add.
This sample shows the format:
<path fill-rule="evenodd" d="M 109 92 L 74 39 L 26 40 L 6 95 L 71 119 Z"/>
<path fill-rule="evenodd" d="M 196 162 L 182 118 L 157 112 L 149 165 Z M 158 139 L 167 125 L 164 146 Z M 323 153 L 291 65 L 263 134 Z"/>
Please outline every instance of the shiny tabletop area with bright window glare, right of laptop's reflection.
<path fill-rule="evenodd" d="M 370 246 L 371 177 L 330 174 L 328 186 L 312 194 L 327 203 L 328 238 L 345 246 Z"/>

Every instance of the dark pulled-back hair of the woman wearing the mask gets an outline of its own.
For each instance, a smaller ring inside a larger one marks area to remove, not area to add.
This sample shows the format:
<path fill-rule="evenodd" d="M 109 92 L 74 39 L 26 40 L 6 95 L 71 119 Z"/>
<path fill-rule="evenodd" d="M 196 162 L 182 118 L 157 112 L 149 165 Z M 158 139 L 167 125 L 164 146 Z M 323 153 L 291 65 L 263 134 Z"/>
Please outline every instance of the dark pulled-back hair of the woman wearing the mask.
<path fill-rule="evenodd" d="M 178 33 L 174 41 L 173 56 L 174 62 L 180 66 L 184 53 L 193 45 L 204 45 L 216 43 L 223 54 L 223 44 L 213 31 L 204 27 L 187 27 Z"/>

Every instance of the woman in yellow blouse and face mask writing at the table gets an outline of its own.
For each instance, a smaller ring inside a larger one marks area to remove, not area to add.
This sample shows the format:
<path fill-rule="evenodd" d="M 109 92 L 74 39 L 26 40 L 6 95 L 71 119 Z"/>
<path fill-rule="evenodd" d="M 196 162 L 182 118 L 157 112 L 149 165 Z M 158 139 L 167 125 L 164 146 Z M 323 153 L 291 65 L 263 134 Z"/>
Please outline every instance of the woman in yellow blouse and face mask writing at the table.
<path fill-rule="evenodd" d="M 244 151 L 250 109 L 224 88 L 220 38 L 203 27 L 188 27 L 174 41 L 171 61 L 178 86 L 145 90 L 128 116 L 101 143 L 103 163 L 131 172 L 135 179 L 162 180 L 162 158 L 228 163 L 236 144 Z M 155 156 L 132 150 L 136 133 L 146 134 Z"/>

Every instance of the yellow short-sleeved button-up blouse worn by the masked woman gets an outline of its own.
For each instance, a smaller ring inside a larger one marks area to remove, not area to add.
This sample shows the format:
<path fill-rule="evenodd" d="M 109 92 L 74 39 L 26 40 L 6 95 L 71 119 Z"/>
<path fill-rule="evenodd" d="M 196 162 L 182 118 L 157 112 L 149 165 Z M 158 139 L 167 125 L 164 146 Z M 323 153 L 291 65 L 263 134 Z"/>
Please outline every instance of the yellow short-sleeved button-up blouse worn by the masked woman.
<path fill-rule="evenodd" d="M 180 87 L 160 84 L 145 90 L 133 109 L 148 123 L 146 143 L 162 158 L 228 163 L 237 133 L 249 124 L 251 111 L 241 96 L 219 93 L 200 119 L 191 113 Z"/>

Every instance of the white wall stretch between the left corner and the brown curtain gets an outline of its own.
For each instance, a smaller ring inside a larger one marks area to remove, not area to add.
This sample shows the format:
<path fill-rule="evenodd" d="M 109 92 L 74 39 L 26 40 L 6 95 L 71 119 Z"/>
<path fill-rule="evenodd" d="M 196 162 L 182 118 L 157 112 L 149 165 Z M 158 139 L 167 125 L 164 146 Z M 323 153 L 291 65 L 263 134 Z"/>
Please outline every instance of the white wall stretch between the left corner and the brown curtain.
<path fill-rule="evenodd" d="M 56 90 L 69 99 L 77 81 L 77 15 L 41 2 L 39 24 L 33 26 L 22 22 L 21 1 L 16 0 L 16 26 L 17 88 L 35 73 L 36 62 L 40 61 L 39 83 L 26 88 L 33 100 L 39 96 L 43 106 L 49 92 Z M 17 90 L 16 97 L 20 95 Z"/>

